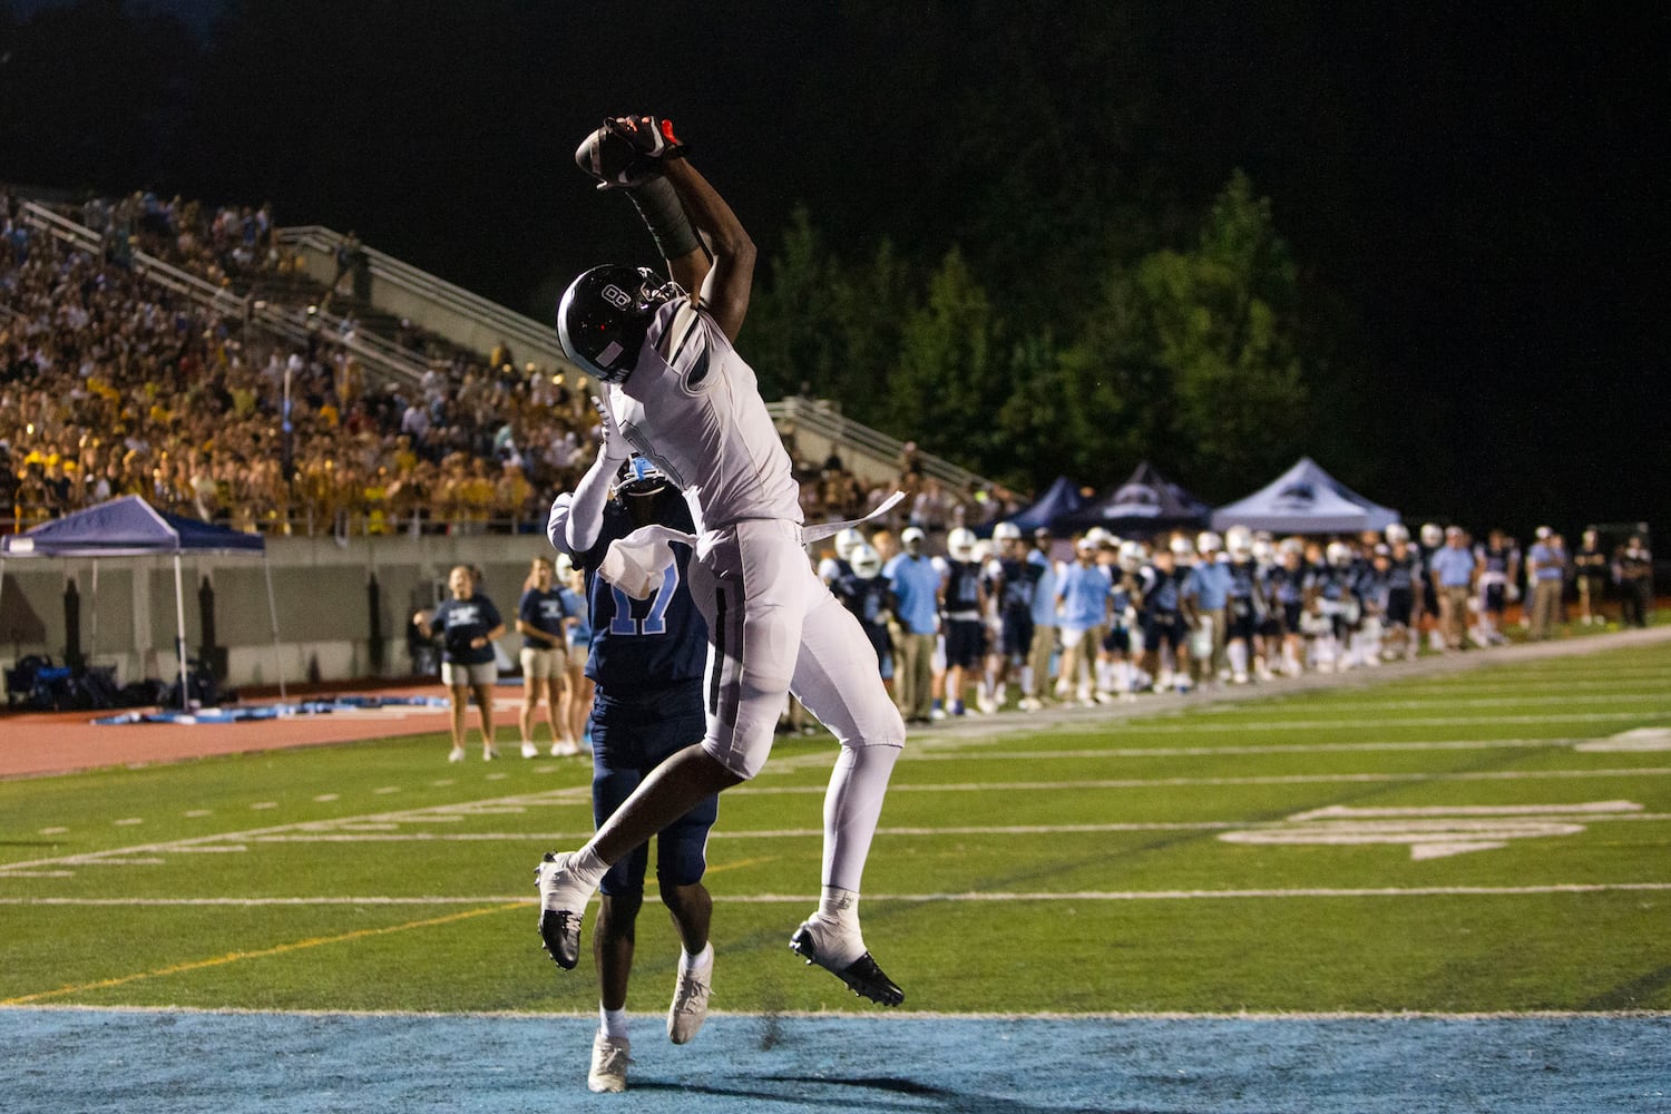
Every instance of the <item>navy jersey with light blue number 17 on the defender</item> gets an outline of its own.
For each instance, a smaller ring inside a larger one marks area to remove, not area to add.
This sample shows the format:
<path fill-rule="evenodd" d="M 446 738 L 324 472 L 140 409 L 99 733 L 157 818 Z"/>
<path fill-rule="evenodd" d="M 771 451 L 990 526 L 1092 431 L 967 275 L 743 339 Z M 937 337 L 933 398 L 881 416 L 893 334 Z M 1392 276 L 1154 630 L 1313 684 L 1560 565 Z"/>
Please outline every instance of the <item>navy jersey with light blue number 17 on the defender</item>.
<path fill-rule="evenodd" d="M 665 513 L 658 523 L 693 531 L 690 511 L 677 493 L 657 496 Z M 592 653 L 587 676 L 598 695 L 612 703 L 660 700 L 668 688 L 702 681 L 709 661 L 709 628 L 685 588 L 690 576 L 690 546 L 673 543 L 673 563 L 662 578 L 662 590 L 648 600 L 633 600 L 598 576 L 598 563 L 610 543 L 635 529 L 632 516 L 608 501 L 603 528 L 592 549 L 576 563 L 587 570 L 587 606 L 592 618 Z"/>

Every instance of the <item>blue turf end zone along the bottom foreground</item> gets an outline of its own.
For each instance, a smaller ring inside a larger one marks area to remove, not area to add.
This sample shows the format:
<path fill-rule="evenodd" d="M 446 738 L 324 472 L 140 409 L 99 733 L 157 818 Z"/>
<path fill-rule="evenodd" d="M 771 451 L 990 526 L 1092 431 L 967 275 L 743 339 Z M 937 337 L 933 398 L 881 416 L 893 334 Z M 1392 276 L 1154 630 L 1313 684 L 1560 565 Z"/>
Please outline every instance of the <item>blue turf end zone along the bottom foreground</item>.
<path fill-rule="evenodd" d="M 597 1020 L 0 1009 L 17 1111 L 1131 1111 L 1611 1114 L 1671 1109 L 1671 1015 L 717 1015 L 673 1047 L 635 1015 L 627 1099 Z"/>

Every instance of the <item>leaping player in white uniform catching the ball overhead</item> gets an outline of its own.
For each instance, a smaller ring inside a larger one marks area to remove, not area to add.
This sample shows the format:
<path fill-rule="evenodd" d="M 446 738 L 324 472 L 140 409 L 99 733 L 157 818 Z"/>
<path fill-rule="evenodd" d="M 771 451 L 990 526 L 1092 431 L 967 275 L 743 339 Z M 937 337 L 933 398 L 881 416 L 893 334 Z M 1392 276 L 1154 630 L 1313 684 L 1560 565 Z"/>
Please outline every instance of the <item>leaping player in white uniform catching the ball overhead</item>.
<path fill-rule="evenodd" d="M 540 935 L 573 969 L 603 872 L 695 802 L 759 773 L 792 691 L 836 735 L 841 757 L 824 798 L 820 902 L 790 949 L 856 994 L 897 1005 L 904 992 L 859 930 L 859 885 L 906 727 L 869 638 L 807 561 L 789 453 L 732 347 L 749 309 L 754 242 L 682 155 L 672 124 L 655 117 L 607 120 L 582 144 L 582 169 L 605 189 L 630 190 L 673 282 L 642 267 L 593 267 L 563 294 L 556 327 L 568 357 L 607 384 L 598 463 L 575 508 L 602 499 L 633 449 L 690 504 L 698 541 L 688 588 L 709 625 L 707 732 L 657 767 L 585 847 L 545 857 Z"/>

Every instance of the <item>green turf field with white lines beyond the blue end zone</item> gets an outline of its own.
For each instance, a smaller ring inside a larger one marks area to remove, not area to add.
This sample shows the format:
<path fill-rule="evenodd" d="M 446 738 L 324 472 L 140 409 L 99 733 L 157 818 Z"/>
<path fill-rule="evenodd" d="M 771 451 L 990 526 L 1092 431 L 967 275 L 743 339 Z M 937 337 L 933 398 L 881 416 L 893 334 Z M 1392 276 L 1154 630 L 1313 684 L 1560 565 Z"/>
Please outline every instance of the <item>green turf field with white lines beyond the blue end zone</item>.
<path fill-rule="evenodd" d="M 0 783 L 0 1004 L 595 1009 L 533 902 L 590 765 L 443 755 Z M 717 1010 L 876 1009 L 787 949 L 832 758 L 784 742 L 722 800 Z M 1671 646 L 924 732 L 864 917 L 921 1010 L 1671 1009 Z M 630 1009 L 665 1009 L 673 962 L 647 905 Z"/>

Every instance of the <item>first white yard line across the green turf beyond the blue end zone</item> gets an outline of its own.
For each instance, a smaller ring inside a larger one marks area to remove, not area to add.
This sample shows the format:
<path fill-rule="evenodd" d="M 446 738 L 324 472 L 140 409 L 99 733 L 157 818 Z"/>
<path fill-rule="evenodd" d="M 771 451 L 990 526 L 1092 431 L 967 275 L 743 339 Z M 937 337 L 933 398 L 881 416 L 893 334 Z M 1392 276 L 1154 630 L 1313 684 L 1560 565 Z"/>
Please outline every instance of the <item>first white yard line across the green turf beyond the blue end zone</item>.
<path fill-rule="evenodd" d="M 1549 897 L 1556 894 L 1666 894 L 1671 882 L 1549 882 L 1541 885 L 1384 885 L 1384 887 L 1293 887 L 1293 889 L 1245 889 L 1245 890 L 961 890 L 947 894 L 866 894 L 869 905 L 876 902 L 1237 902 L 1237 900 L 1323 900 L 1323 899 L 1364 899 L 1364 897 Z M 715 905 L 790 905 L 802 902 L 817 904 L 817 894 L 715 894 Z M 520 897 L 511 894 L 480 894 L 473 897 L 391 897 L 361 894 L 356 897 L 0 897 L 3 905 L 58 905 L 100 909 L 109 905 L 132 905 L 135 909 L 155 907 L 236 907 L 262 909 L 269 905 L 329 907 L 329 905 L 486 905 L 495 909 L 478 909 L 475 914 L 503 912 L 506 909 L 531 909 L 540 904 L 538 897 Z M 419 927 L 428 922 L 418 922 Z M 366 929 L 363 932 L 394 932 L 398 929 Z M 336 939 L 336 937 L 333 937 Z M 329 940 L 326 940 L 329 942 Z M 251 954 L 237 954 L 236 959 L 247 959 Z M 0 1002 L 5 1005 L 5 1002 Z"/>

